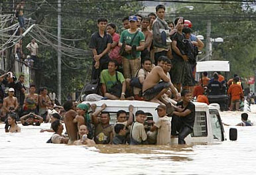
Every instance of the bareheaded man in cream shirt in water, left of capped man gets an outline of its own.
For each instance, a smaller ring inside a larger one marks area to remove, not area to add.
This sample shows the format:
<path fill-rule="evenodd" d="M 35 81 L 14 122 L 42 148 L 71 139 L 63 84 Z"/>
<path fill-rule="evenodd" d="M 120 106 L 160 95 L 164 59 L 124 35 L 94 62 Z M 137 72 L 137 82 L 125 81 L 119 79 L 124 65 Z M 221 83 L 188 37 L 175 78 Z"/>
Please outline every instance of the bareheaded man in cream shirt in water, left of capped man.
<path fill-rule="evenodd" d="M 135 121 L 131 125 L 130 145 L 143 145 L 147 141 L 147 134 L 144 128 L 146 115 L 139 110 L 135 113 Z"/>

